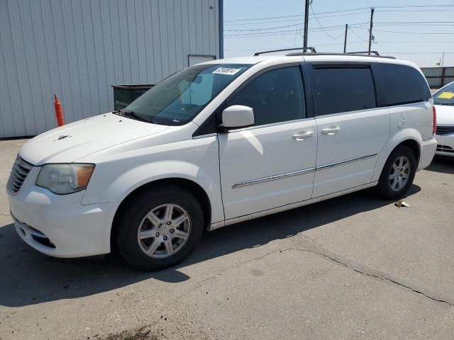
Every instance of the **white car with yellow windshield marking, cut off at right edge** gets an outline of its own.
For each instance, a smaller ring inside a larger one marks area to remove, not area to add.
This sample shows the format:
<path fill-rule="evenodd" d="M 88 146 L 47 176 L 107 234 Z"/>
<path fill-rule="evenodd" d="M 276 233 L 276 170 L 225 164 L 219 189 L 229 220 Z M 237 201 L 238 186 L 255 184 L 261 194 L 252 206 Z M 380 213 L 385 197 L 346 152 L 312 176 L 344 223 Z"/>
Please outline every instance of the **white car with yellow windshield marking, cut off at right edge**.
<path fill-rule="evenodd" d="M 437 111 L 436 154 L 454 157 L 454 81 L 433 94 Z"/>

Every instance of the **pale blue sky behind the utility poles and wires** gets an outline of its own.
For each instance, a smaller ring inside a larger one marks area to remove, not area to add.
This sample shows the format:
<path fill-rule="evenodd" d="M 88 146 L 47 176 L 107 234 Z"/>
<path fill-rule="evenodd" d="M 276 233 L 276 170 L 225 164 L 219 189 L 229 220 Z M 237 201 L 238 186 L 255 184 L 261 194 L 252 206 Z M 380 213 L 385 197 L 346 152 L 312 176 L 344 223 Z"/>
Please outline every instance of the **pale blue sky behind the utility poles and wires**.
<path fill-rule="evenodd" d="M 454 0 L 313 0 L 308 46 L 317 52 L 367 51 L 370 7 L 375 7 L 371 50 L 419 67 L 454 66 Z M 303 45 L 304 0 L 223 0 L 224 57 Z M 318 19 L 318 21 L 317 21 Z"/>

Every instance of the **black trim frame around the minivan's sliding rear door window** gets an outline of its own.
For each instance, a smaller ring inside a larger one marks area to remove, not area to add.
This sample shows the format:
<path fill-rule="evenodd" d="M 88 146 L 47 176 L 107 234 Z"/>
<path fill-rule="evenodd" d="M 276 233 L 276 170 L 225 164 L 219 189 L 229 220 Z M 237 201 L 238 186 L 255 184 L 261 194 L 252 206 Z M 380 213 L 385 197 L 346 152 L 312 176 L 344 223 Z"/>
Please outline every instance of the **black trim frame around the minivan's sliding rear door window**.
<path fill-rule="evenodd" d="M 379 106 L 379 101 L 378 101 L 378 91 L 377 91 L 377 84 L 375 81 L 374 77 L 374 72 L 373 72 L 373 65 L 375 62 L 306 62 L 305 64 L 308 64 L 308 67 L 306 67 L 306 74 L 309 74 L 309 78 L 311 80 L 311 100 L 312 100 L 312 106 L 313 106 L 313 114 L 314 117 L 332 117 L 336 115 L 344 115 L 344 114 L 350 114 L 350 113 L 356 113 L 356 112 L 362 112 L 362 111 L 369 111 L 369 110 L 376 110 L 377 108 L 380 108 Z M 330 113 L 328 115 L 319 115 L 316 114 L 316 108 L 315 108 L 315 103 L 316 103 L 316 98 L 315 98 L 315 92 L 316 92 L 316 83 L 315 83 L 315 74 L 314 74 L 314 69 L 369 69 L 370 70 L 370 75 L 372 77 L 372 86 L 374 87 L 374 94 L 375 94 L 375 107 L 374 108 L 367 108 L 367 109 L 360 109 L 360 110 L 353 110 L 353 111 L 341 111 L 337 113 Z"/>

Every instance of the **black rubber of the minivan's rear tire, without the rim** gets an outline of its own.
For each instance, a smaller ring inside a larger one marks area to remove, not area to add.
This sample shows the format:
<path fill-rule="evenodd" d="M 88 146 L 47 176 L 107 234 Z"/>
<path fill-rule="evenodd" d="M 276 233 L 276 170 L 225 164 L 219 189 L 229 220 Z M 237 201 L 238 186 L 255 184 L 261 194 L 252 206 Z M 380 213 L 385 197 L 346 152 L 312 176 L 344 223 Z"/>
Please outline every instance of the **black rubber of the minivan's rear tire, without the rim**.
<path fill-rule="evenodd" d="M 394 164 L 394 162 L 396 162 L 396 160 L 402 156 L 409 159 L 410 162 L 409 180 L 406 182 L 405 186 L 401 190 L 393 191 L 391 188 L 391 184 L 389 183 L 389 173 L 391 172 L 391 167 Z M 403 198 L 407 191 L 409 191 L 409 188 L 413 185 L 417 166 L 418 165 L 416 163 L 416 157 L 414 155 L 414 152 L 409 147 L 401 145 L 394 149 L 393 152 L 389 155 L 387 162 L 384 164 L 383 171 L 378 183 L 378 189 L 383 198 L 389 200 Z"/>

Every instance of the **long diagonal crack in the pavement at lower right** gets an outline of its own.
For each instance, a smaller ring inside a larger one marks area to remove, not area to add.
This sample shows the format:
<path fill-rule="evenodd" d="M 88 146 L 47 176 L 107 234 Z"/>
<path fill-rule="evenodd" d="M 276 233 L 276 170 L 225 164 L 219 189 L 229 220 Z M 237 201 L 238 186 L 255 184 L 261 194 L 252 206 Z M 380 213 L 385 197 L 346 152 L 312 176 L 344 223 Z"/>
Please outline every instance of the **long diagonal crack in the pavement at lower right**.
<path fill-rule="evenodd" d="M 373 278 L 378 278 L 380 280 L 386 280 L 390 283 L 394 283 L 396 285 L 409 289 L 414 293 L 423 295 L 424 297 L 427 297 L 430 300 L 437 301 L 437 302 L 443 302 L 447 305 L 450 305 L 451 307 L 454 307 L 454 302 L 450 302 L 448 300 L 443 300 L 439 297 L 434 297 L 435 294 L 424 293 L 420 289 L 412 288 L 408 284 L 404 284 L 402 282 L 399 282 L 396 279 L 389 278 L 389 276 L 384 275 L 384 273 L 378 273 L 375 271 L 368 270 L 368 268 L 366 268 L 365 266 L 361 266 L 359 264 L 354 264 L 351 261 L 350 261 L 350 263 L 348 263 L 349 261 L 344 261 L 343 259 L 341 259 L 341 256 L 338 256 L 337 254 L 334 254 L 331 251 L 327 251 L 319 242 L 316 242 L 314 239 L 311 239 L 310 237 L 307 237 L 304 234 L 299 234 L 299 235 L 304 237 L 305 239 L 308 239 L 309 242 L 311 242 L 311 244 L 315 244 L 316 246 L 321 248 L 321 251 L 319 251 L 319 250 L 311 249 L 312 248 L 311 246 L 307 246 L 306 248 L 299 248 L 298 246 L 295 246 L 295 249 L 297 249 L 299 251 L 309 251 L 310 253 L 317 254 L 319 256 L 323 256 L 323 258 L 333 261 L 335 263 L 338 263 L 339 265 L 344 266 L 345 268 L 349 268 L 357 273 L 361 273 L 366 276 L 371 276 Z M 360 268 L 360 267 L 362 267 L 362 268 Z"/>

